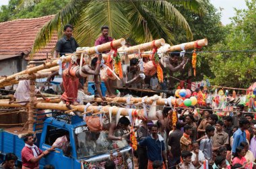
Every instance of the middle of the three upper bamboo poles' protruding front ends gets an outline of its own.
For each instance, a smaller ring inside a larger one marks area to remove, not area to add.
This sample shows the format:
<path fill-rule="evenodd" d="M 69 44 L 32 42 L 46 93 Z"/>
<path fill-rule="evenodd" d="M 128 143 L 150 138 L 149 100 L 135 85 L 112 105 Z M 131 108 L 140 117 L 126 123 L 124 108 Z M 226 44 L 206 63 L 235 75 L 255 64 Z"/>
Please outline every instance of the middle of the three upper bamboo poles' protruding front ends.
<path fill-rule="evenodd" d="M 139 52 L 139 50 L 141 52 L 143 51 L 147 51 L 147 50 L 151 50 L 154 48 L 154 46 L 156 46 L 157 48 L 160 48 L 160 46 L 164 46 L 165 41 L 164 39 L 159 39 L 159 40 L 155 40 L 154 43 L 152 42 L 148 42 L 145 44 L 139 44 L 136 46 L 131 46 L 129 48 L 119 48 L 117 50 L 117 52 L 124 52 L 126 54 L 133 54 L 133 53 L 137 53 Z"/>

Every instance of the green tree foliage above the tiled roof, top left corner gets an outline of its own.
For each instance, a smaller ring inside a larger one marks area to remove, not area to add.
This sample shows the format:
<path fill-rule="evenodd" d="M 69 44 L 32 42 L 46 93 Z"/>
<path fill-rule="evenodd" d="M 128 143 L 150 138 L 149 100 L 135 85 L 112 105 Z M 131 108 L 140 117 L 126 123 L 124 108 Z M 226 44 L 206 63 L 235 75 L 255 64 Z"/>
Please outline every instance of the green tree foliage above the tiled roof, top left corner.
<path fill-rule="evenodd" d="M 13 19 L 42 17 L 53 15 L 60 11 L 70 0 L 52 1 L 38 0 L 34 3 L 22 3 L 20 0 L 10 0 L 9 5 L 2 5 L 0 22 Z"/>

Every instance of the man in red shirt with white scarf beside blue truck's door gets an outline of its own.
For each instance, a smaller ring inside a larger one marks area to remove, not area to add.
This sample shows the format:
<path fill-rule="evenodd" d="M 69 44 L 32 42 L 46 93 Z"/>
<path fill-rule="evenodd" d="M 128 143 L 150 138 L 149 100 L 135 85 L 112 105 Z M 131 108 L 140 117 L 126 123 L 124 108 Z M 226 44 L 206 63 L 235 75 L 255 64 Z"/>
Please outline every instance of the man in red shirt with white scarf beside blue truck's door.
<path fill-rule="evenodd" d="M 24 136 L 25 146 L 22 149 L 22 169 L 39 169 L 39 160 L 53 152 L 54 148 L 49 148 L 44 152 L 34 145 L 33 134 L 29 133 Z"/>

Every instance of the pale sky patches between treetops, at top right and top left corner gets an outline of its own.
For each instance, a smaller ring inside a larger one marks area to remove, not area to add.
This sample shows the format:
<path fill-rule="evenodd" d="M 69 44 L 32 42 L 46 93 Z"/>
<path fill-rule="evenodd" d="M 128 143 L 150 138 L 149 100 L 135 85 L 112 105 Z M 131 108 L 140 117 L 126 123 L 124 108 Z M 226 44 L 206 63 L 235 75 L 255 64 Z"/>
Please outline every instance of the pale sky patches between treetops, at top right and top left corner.
<path fill-rule="evenodd" d="M 54 0 L 53 0 L 54 1 Z M 230 17 L 235 15 L 234 7 L 237 9 L 245 9 L 245 0 L 210 0 L 211 3 L 220 11 L 222 9 L 222 24 L 230 23 Z M 9 0 L 0 0 L 1 5 L 7 5 Z"/>

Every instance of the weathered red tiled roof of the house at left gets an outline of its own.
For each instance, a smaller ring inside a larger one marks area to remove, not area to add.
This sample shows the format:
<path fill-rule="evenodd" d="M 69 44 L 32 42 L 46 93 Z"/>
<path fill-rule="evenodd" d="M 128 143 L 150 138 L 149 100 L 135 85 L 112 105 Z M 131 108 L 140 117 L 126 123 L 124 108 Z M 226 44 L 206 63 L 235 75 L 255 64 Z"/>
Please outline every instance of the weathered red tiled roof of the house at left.
<path fill-rule="evenodd" d="M 0 58 L 1 56 L 26 55 L 26 60 L 30 59 L 30 52 L 36 39 L 36 34 L 40 28 L 54 15 L 32 18 L 17 19 L 0 23 Z M 33 60 L 46 58 L 46 53 L 51 57 L 51 52 L 57 42 L 57 36 L 52 36 L 51 42 L 34 54 Z"/>

